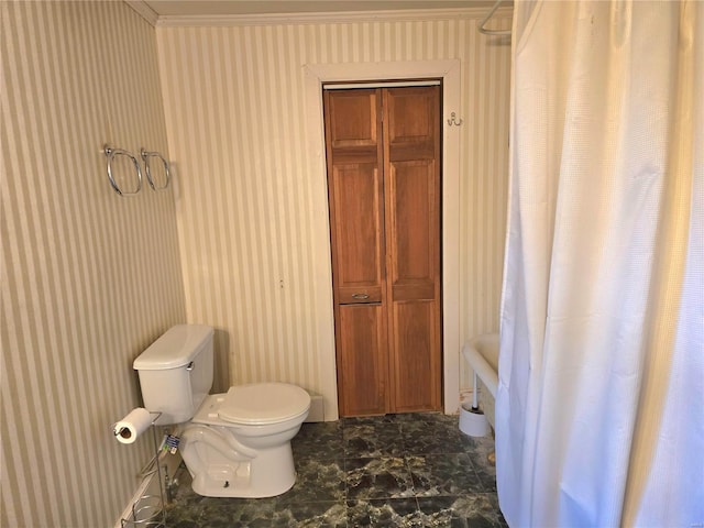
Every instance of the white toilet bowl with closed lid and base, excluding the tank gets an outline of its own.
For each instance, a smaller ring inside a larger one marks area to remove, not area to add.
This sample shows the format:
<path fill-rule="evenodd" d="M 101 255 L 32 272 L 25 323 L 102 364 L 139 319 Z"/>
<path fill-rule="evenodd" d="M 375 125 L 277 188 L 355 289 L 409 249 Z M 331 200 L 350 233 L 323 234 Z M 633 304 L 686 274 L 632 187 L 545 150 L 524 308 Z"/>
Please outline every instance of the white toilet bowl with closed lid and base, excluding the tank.
<path fill-rule="evenodd" d="M 194 491 L 249 498 L 288 491 L 296 482 L 290 440 L 309 408 L 308 393 L 283 383 L 208 396 L 180 437 Z"/>

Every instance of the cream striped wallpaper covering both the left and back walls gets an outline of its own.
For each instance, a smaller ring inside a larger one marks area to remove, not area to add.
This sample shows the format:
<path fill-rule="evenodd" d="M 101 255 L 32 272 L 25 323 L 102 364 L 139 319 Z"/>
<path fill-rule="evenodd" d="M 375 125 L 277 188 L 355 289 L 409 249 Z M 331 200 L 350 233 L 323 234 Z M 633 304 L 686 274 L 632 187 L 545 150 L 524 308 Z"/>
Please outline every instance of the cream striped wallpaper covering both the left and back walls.
<path fill-rule="evenodd" d="M 452 316 L 461 340 L 497 328 L 509 46 L 476 32 L 483 12 L 156 30 L 122 2 L 0 13 L 1 526 L 114 524 L 150 448 L 110 425 L 173 323 L 217 328 L 216 388 L 284 380 L 334 405 L 307 66 L 460 62 Z M 168 153 L 173 187 L 119 197 L 105 142 Z"/>

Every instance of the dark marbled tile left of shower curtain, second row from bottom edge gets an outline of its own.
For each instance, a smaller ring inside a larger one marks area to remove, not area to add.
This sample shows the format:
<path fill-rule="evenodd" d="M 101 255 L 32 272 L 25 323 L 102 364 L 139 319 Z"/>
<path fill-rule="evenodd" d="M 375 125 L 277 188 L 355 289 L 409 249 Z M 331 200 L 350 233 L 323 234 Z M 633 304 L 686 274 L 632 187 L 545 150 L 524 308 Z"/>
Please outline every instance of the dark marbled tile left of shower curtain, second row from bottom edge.
<path fill-rule="evenodd" d="M 485 491 L 466 453 L 407 457 L 406 460 L 418 497 Z"/>

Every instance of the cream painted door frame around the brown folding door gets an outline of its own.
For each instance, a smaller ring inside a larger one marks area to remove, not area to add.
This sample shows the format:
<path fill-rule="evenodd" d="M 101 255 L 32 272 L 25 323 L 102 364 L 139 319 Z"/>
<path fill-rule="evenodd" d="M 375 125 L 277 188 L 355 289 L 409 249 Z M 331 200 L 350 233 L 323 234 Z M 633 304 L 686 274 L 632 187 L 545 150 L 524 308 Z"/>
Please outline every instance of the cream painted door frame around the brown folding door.
<path fill-rule="evenodd" d="M 409 61 L 391 63 L 307 64 L 306 135 L 314 188 L 310 224 L 314 228 L 316 336 L 324 419 L 337 420 L 338 388 L 330 262 L 330 217 L 322 112 L 322 84 L 329 81 L 442 79 L 442 371 L 443 407 L 453 414 L 460 405 L 460 130 L 446 125 L 460 108 L 461 63 Z M 324 257 L 322 257 L 324 255 Z"/>

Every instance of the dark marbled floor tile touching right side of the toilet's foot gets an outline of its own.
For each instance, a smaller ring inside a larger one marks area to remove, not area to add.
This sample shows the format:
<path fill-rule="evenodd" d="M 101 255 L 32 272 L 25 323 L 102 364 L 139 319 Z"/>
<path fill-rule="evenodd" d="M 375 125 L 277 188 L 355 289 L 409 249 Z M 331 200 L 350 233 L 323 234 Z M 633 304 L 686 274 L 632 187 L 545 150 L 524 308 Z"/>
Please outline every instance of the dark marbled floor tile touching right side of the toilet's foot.
<path fill-rule="evenodd" d="M 338 453 L 339 454 L 339 453 Z M 345 499 L 344 460 L 296 460 L 296 483 L 278 496 L 280 504 Z"/>

